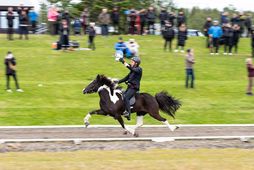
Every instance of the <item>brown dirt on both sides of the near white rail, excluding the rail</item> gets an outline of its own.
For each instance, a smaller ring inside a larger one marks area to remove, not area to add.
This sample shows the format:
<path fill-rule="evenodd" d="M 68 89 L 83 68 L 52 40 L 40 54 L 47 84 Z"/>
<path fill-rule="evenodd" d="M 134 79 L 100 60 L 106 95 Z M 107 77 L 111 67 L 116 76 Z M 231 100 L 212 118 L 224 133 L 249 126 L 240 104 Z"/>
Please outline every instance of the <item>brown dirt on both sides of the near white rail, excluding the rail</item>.
<path fill-rule="evenodd" d="M 254 126 L 181 127 L 175 132 L 168 128 L 140 128 L 140 137 L 184 136 L 254 136 Z M 4 128 L 0 139 L 55 139 L 55 138 L 126 138 L 121 128 Z M 8 151 L 65 151 L 65 150 L 129 150 L 149 148 L 248 148 L 254 149 L 253 140 L 181 140 L 172 142 L 120 141 L 120 142 L 26 142 L 0 144 L 0 152 Z"/>

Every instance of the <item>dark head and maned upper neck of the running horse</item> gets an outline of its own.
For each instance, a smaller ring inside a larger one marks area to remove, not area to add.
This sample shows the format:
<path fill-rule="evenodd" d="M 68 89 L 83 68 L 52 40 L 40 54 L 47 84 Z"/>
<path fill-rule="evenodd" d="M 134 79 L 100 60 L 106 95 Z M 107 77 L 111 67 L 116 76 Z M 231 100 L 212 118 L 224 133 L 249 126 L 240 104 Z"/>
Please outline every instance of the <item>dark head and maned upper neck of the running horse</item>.
<path fill-rule="evenodd" d="M 114 82 L 106 76 L 99 74 L 85 89 L 83 89 L 83 94 L 96 93 L 98 89 L 103 85 L 108 86 L 110 88 L 111 94 L 113 95 L 113 90 L 115 87 Z"/>

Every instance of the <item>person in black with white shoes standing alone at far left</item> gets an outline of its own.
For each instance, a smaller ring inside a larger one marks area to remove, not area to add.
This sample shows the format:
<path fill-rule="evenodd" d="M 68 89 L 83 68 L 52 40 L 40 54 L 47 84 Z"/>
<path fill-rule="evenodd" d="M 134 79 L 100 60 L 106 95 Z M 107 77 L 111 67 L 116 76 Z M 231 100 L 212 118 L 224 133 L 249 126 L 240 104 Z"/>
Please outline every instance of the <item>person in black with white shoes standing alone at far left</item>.
<path fill-rule="evenodd" d="M 14 58 L 12 52 L 8 51 L 5 60 L 5 75 L 6 75 L 6 91 L 9 93 L 12 93 L 12 90 L 10 88 L 10 77 L 13 77 L 16 85 L 16 91 L 17 92 L 24 92 L 22 89 L 20 89 L 18 84 L 18 78 L 16 74 L 16 59 Z"/>

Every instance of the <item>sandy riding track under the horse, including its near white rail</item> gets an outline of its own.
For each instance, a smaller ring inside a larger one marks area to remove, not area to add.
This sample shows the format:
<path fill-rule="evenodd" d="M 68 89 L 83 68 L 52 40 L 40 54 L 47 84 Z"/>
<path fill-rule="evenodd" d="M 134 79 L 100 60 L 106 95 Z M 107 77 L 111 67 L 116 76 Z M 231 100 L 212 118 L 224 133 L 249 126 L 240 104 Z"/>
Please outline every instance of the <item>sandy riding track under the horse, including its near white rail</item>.
<path fill-rule="evenodd" d="M 254 148 L 254 125 L 145 126 L 138 138 L 119 126 L 0 127 L 0 152 L 149 148 Z"/>

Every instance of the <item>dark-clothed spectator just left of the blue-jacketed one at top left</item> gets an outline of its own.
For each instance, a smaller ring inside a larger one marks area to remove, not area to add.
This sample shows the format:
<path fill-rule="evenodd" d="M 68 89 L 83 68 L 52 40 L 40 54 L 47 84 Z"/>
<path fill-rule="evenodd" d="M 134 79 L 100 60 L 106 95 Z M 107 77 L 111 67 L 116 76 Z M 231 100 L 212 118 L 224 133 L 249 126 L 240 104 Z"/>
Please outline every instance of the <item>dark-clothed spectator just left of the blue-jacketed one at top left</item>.
<path fill-rule="evenodd" d="M 25 35 L 26 40 L 28 40 L 28 22 L 26 11 L 21 11 L 19 15 L 19 39 L 23 39 L 23 35 Z"/>

